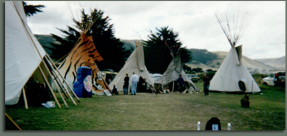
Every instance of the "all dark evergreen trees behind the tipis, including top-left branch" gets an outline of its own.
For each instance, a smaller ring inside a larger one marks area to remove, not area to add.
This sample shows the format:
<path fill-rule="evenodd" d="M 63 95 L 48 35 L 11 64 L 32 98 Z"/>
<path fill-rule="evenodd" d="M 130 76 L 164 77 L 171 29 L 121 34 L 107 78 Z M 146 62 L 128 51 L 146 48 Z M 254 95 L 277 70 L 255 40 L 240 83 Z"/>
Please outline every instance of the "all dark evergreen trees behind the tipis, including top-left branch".
<path fill-rule="evenodd" d="M 27 5 L 23 2 L 25 13 L 27 16 L 33 16 L 37 12 L 42 12 L 40 9 L 43 5 Z M 28 8 L 29 7 L 29 8 Z M 133 49 L 126 50 L 119 38 L 115 37 L 113 24 L 109 21 L 109 16 L 103 17 L 103 11 L 93 9 L 89 14 L 85 13 L 84 9 L 81 12 L 81 20 L 75 21 L 74 26 L 68 26 L 66 29 L 57 28 L 64 35 L 58 36 L 51 34 L 57 41 L 50 43 L 55 48 L 50 48 L 53 51 L 53 59 L 59 60 L 65 58 L 71 51 L 73 45 L 80 38 L 81 32 L 76 28 L 79 25 L 91 21 L 89 16 L 97 15 L 98 19 L 93 23 L 87 35 L 92 36 L 94 44 L 103 58 L 103 61 L 96 62 L 101 70 L 112 69 L 118 72 L 124 65 L 126 59 L 131 55 Z M 187 63 L 192 60 L 192 52 L 186 47 L 182 47 L 181 41 L 178 39 L 178 32 L 175 32 L 169 26 L 155 28 L 155 32 L 150 31 L 147 40 L 142 41 L 144 45 L 145 65 L 150 73 L 164 73 L 173 57 L 180 55 L 182 63 Z"/>

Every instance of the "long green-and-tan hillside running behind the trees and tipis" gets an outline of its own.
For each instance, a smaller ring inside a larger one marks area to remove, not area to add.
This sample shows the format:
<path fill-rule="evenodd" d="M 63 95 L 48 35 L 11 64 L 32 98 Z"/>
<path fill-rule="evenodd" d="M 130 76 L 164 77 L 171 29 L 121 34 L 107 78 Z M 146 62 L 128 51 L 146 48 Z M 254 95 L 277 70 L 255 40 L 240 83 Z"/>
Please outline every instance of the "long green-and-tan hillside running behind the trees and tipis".
<path fill-rule="evenodd" d="M 35 35 L 40 44 L 43 46 L 49 56 L 53 56 L 50 48 L 55 48 L 49 42 L 55 43 L 56 41 L 50 35 Z M 123 47 L 126 50 L 135 48 L 136 40 L 124 40 Z M 187 66 L 191 68 L 200 67 L 203 70 L 213 69 L 217 70 L 222 64 L 228 52 L 214 51 L 210 52 L 206 49 L 189 49 L 192 51 L 192 61 L 187 63 Z M 270 69 L 285 69 L 285 56 L 278 59 L 258 59 L 252 60 L 248 57 L 243 56 L 243 62 L 249 72 L 251 73 L 268 73 Z M 273 66 L 273 67 L 272 67 Z"/>

